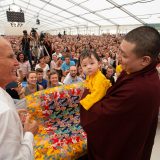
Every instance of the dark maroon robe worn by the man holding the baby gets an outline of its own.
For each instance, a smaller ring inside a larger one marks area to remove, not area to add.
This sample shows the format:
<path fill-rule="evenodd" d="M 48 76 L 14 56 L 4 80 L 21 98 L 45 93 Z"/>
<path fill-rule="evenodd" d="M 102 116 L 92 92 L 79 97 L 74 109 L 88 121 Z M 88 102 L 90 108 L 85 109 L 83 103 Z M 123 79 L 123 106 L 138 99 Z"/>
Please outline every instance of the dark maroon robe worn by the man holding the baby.
<path fill-rule="evenodd" d="M 101 101 L 88 111 L 81 107 L 89 160 L 150 159 L 160 106 L 155 66 L 129 75 L 122 72 Z"/>

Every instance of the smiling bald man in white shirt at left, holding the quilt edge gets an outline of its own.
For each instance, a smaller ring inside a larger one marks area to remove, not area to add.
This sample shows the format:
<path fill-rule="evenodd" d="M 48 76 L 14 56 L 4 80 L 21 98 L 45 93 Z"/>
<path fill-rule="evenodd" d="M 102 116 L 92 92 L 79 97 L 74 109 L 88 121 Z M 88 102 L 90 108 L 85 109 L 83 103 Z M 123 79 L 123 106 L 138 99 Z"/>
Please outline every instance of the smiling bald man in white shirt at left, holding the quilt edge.
<path fill-rule="evenodd" d="M 0 160 L 33 159 L 37 122 L 27 115 L 23 128 L 13 100 L 4 90 L 6 84 L 16 81 L 18 65 L 10 43 L 0 37 Z"/>

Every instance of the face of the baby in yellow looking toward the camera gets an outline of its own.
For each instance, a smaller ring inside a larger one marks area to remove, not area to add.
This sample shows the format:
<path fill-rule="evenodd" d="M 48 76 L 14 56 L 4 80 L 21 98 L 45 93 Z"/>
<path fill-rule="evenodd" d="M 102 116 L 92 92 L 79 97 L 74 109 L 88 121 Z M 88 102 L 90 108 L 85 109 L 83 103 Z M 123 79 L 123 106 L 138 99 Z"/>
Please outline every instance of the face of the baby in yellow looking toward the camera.
<path fill-rule="evenodd" d="M 83 72 L 86 75 L 91 76 L 98 71 L 100 64 L 98 60 L 93 55 L 91 55 L 91 58 L 86 57 L 82 60 L 81 66 L 82 66 Z"/>

